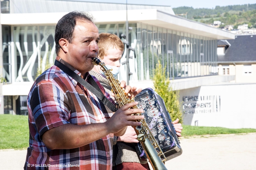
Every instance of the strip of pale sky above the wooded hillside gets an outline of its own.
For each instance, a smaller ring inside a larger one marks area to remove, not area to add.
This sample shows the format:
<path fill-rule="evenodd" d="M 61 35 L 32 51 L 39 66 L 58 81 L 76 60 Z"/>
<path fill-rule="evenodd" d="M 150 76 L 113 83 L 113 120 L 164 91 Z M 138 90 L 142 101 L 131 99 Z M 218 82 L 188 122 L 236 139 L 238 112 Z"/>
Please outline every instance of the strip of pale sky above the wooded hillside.
<path fill-rule="evenodd" d="M 126 3 L 126 0 L 84 0 L 91 2 Z M 128 4 L 166 5 L 172 8 L 187 6 L 193 8 L 215 8 L 215 6 L 256 4 L 256 0 L 127 0 Z"/>

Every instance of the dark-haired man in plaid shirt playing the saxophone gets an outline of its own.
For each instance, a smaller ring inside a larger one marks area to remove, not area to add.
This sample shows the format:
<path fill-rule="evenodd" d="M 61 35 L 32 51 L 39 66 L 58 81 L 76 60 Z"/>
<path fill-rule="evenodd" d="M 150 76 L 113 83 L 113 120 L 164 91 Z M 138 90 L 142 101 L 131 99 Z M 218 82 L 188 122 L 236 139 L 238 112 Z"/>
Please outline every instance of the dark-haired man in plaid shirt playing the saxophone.
<path fill-rule="evenodd" d="M 56 25 L 54 39 L 56 61 L 88 81 L 99 42 L 92 17 L 76 11 L 64 15 Z M 125 86 L 125 92 L 135 96 L 140 91 Z M 113 136 L 123 135 L 128 125 L 141 125 L 134 120 L 144 116 L 130 116 L 143 112 L 129 109 L 136 104 L 126 104 L 114 115 L 108 113 L 94 93 L 58 66 L 50 67 L 37 78 L 28 95 L 30 137 L 24 169 L 111 170 Z"/>

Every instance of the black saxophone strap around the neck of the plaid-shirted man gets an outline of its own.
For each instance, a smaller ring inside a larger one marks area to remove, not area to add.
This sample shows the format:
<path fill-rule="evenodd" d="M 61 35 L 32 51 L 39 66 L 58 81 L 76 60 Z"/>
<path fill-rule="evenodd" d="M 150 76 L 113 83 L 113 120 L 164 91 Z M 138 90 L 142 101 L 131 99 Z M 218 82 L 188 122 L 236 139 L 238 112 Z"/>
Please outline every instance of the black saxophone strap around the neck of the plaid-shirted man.
<path fill-rule="evenodd" d="M 102 93 L 102 91 L 99 89 L 98 84 L 94 81 L 93 77 L 89 77 L 88 81 L 91 83 L 89 84 L 87 81 L 85 81 L 82 77 L 78 76 L 75 72 L 73 72 L 71 69 L 69 69 L 67 66 L 65 66 L 63 63 L 55 60 L 54 65 L 59 67 L 63 72 L 68 74 L 68 76 L 74 78 L 77 82 L 79 82 L 81 85 L 83 85 L 87 90 L 89 90 L 91 93 L 93 93 L 95 96 L 99 98 L 99 100 L 102 101 L 103 104 L 105 104 L 112 112 L 116 112 L 117 109 L 111 103 L 108 98 Z"/>

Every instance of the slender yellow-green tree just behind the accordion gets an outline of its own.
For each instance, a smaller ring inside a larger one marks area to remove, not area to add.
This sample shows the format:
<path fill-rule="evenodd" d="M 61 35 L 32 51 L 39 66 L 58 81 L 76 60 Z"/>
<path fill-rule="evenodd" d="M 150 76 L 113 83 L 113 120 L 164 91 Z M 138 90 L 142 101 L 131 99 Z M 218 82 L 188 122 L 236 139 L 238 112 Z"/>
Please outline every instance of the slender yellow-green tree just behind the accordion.
<path fill-rule="evenodd" d="M 165 101 L 166 109 L 170 113 L 172 120 L 178 118 L 180 119 L 180 123 L 182 123 L 178 91 L 173 91 L 172 88 L 170 88 L 170 80 L 166 77 L 165 73 L 165 68 L 163 69 L 161 62 L 158 61 L 153 77 L 155 92 Z"/>

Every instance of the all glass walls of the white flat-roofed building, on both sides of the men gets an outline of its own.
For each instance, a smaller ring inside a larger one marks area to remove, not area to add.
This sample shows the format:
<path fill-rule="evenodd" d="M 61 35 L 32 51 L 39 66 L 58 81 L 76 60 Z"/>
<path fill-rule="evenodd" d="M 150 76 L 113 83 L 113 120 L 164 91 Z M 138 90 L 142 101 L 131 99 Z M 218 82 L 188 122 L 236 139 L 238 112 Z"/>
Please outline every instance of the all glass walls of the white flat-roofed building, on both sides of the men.
<path fill-rule="evenodd" d="M 97 24 L 99 32 L 116 34 L 121 40 L 124 23 Z M 217 40 L 186 32 L 130 23 L 130 80 L 151 80 L 158 61 L 170 79 L 217 74 Z M 7 82 L 33 82 L 38 70 L 52 66 L 55 54 L 55 26 L 2 26 L 3 76 Z M 12 50 L 13 47 L 13 50 Z M 126 49 L 119 79 L 126 80 Z M 13 61 L 13 62 L 12 62 Z M 13 71 L 11 71 L 13 70 Z"/>

